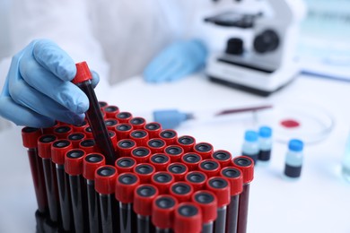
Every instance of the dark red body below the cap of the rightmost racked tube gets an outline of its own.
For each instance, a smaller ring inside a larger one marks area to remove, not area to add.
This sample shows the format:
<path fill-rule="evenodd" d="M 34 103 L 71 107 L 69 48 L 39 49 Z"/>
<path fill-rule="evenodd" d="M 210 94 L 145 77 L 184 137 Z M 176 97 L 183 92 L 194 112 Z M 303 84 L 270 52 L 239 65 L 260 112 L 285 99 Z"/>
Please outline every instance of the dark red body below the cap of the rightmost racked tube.
<path fill-rule="evenodd" d="M 238 207 L 237 233 L 247 232 L 248 203 L 249 203 L 249 183 L 243 184 L 243 191 L 240 194 Z"/>

